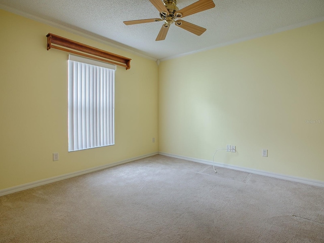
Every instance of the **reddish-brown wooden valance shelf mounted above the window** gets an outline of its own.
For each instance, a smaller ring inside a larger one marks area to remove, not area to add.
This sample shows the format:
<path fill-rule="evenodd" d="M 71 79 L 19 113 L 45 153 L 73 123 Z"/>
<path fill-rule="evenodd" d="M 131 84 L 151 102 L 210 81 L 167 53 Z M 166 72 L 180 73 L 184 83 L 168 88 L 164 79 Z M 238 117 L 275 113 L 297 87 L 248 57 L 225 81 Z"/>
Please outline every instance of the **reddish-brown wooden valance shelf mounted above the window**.
<path fill-rule="evenodd" d="M 55 48 L 61 51 L 77 54 L 80 56 L 96 59 L 102 62 L 107 62 L 114 65 L 119 65 L 126 67 L 126 69 L 131 68 L 131 60 L 130 58 L 119 56 L 110 52 L 106 52 L 101 49 L 97 49 L 91 46 L 87 46 L 82 43 L 74 42 L 71 39 L 67 39 L 55 34 L 48 33 L 47 35 L 47 50 L 51 48 Z M 53 45 L 56 44 L 56 45 Z M 69 49 L 66 49 L 66 48 Z M 88 55 L 88 54 L 91 55 Z"/>

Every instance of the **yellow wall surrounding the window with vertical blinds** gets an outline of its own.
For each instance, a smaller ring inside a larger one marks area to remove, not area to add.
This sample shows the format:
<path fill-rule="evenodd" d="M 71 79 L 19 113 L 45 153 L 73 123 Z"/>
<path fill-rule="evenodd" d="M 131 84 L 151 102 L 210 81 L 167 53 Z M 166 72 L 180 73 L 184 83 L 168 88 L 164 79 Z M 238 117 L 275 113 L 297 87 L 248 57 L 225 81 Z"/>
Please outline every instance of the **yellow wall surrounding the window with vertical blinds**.
<path fill-rule="evenodd" d="M 116 70 L 115 145 L 67 151 L 68 54 L 46 50 L 49 32 L 132 58 Z M 0 189 L 154 153 L 157 65 L 0 10 L 0 116 Z"/>

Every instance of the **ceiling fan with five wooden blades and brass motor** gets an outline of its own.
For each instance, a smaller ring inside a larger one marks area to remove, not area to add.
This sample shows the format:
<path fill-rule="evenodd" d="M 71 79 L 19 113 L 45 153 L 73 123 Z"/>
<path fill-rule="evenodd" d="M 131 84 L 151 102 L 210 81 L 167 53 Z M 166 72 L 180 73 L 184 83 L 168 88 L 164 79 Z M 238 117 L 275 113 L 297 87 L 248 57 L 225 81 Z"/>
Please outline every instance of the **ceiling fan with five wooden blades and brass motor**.
<path fill-rule="evenodd" d="M 154 5 L 158 12 L 160 12 L 160 19 L 140 19 L 124 21 L 124 23 L 126 25 L 131 25 L 164 21 L 164 24 L 161 27 L 155 41 L 163 41 L 167 36 L 170 25 L 173 23 L 180 28 L 190 31 L 191 33 L 201 35 L 206 31 L 205 28 L 181 20 L 181 18 L 215 7 L 213 0 L 199 0 L 181 10 L 179 10 L 179 8 L 177 7 L 177 0 L 163 0 L 163 2 L 161 0 L 149 1 L 152 3 L 152 5 Z M 176 20 L 178 18 L 179 20 Z"/>

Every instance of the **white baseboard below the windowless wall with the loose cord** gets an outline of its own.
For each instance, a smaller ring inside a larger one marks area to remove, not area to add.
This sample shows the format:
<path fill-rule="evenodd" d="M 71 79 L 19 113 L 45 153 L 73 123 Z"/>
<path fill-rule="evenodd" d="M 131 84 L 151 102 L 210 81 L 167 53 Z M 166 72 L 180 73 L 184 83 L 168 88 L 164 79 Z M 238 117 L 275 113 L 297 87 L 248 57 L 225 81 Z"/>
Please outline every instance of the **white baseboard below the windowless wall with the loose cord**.
<path fill-rule="evenodd" d="M 190 160 L 190 161 L 201 163 L 201 164 L 206 164 L 206 165 L 211 165 L 211 166 L 213 165 L 213 161 L 210 161 L 210 160 L 190 158 L 190 157 L 186 157 L 186 156 L 164 153 L 164 152 L 158 152 L 158 154 L 173 157 L 173 158 L 181 158 L 181 159 L 185 159 L 185 160 Z M 227 165 L 227 164 L 218 163 L 218 162 L 215 162 L 215 166 L 228 168 L 228 169 L 232 169 L 232 170 L 237 170 L 237 171 L 244 171 L 244 172 L 262 175 L 262 176 L 274 177 L 274 178 L 287 180 L 287 181 L 295 181 L 295 182 L 300 182 L 300 183 L 304 183 L 304 184 L 308 184 L 308 185 L 324 187 L 324 181 L 310 180 L 310 179 L 301 178 L 301 177 L 276 174 L 276 173 L 272 173 L 272 172 L 255 170 L 255 169 L 250 169 L 250 168 L 245 168 L 245 167 L 240 167 L 240 166 Z"/>

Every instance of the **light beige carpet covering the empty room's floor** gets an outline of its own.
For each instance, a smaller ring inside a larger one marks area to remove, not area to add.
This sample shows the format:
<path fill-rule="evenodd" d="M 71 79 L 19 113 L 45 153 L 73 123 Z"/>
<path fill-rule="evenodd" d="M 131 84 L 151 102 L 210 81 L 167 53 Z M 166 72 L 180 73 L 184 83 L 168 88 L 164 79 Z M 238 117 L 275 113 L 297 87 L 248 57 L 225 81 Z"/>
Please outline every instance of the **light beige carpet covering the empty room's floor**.
<path fill-rule="evenodd" d="M 155 155 L 0 197 L 0 242 L 324 242 L 324 188 Z"/>

